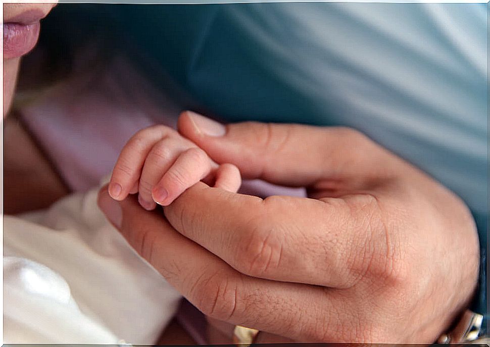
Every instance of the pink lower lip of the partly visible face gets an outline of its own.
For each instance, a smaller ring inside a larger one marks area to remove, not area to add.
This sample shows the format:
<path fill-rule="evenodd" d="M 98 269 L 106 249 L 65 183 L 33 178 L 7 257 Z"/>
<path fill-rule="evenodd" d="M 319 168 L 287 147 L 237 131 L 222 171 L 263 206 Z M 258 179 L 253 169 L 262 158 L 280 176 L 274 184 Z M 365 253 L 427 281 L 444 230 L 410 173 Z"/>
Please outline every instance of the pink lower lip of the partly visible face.
<path fill-rule="evenodd" d="M 36 45 L 39 37 L 39 22 L 33 24 L 4 24 L 4 59 L 18 58 L 27 54 Z"/>

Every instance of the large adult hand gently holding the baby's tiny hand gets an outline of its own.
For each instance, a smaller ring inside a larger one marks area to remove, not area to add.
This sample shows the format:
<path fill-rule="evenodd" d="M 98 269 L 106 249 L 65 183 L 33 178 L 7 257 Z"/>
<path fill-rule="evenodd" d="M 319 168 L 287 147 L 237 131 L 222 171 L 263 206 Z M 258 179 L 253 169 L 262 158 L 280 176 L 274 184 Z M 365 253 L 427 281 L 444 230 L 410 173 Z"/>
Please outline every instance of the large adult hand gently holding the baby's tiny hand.
<path fill-rule="evenodd" d="M 466 206 L 359 132 L 224 127 L 192 113 L 179 131 L 243 178 L 309 196 L 198 183 L 164 209 L 167 222 L 101 192 L 136 251 L 211 318 L 300 342 L 430 343 L 471 299 L 478 242 Z"/>

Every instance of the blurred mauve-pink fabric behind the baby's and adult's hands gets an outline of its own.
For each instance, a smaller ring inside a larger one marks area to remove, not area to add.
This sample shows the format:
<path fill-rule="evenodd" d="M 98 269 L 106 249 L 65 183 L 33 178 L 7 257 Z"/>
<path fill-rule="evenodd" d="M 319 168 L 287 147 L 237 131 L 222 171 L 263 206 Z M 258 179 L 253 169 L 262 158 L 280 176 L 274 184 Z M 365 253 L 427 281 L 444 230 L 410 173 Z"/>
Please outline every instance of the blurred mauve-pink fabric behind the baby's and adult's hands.
<path fill-rule="evenodd" d="M 174 127 L 181 110 L 123 58 L 104 73 L 80 72 L 21 110 L 30 132 L 73 191 L 98 185 L 111 172 L 126 141 L 159 123 Z M 258 196 L 304 196 L 304 189 L 244 182 L 240 192 Z M 204 316 L 184 302 L 177 318 L 198 343 L 206 343 Z"/>

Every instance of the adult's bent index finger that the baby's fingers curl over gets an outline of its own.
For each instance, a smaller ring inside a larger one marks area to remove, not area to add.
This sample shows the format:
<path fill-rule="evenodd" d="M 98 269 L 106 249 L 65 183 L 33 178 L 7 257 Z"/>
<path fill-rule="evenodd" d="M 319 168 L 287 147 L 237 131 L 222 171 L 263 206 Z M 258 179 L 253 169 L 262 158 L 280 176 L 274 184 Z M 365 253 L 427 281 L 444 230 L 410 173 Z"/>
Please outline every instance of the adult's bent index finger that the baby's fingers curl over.
<path fill-rule="evenodd" d="M 176 230 L 242 274 L 346 288 L 365 266 L 353 254 L 377 232 L 374 219 L 365 230 L 367 203 L 362 196 L 262 200 L 200 182 L 164 211 Z"/>

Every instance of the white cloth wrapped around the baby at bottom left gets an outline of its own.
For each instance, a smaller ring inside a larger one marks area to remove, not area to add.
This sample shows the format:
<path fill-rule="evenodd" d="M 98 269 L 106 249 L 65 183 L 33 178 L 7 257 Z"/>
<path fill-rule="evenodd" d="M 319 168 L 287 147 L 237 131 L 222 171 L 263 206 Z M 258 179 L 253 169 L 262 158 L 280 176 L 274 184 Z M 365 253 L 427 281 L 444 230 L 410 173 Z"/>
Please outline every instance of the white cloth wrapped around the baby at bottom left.
<path fill-rule="evenodd" d="M 96 197 L 4 217 L 4 343 L 153 344 L 174 315 L 180 295 Z"/>

